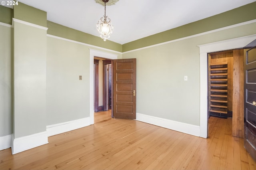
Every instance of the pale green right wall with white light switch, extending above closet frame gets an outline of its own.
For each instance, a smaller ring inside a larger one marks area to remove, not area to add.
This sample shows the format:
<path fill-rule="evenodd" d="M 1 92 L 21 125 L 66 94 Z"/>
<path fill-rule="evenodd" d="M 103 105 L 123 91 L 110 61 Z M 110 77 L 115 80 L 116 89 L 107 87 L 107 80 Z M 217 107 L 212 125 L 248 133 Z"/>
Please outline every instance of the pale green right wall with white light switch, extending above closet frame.
<path fill-rule="evenodd" d="M 137 113 L 199 126 L 197 45 L 253 34 L 256 23 L 124 53 L 123 58 L 137 59 Z M 184 81 L 184 75 L 188 81 Z"/>

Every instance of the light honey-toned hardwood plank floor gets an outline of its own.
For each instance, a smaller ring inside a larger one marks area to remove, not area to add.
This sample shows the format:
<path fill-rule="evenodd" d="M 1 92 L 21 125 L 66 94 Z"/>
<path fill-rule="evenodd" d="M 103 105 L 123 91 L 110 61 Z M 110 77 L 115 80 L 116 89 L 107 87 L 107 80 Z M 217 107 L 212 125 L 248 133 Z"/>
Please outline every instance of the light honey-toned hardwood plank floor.
<path fill-rule="evenodd" d="M 49 144 L 18 154 L 0 151 L 7 169 L 189 169 L 256 170 L 232 135 L 232 119 L 210 117 L 204 139 L 134 120 L 95 113 L 95 124 L 48 138 Z"/>

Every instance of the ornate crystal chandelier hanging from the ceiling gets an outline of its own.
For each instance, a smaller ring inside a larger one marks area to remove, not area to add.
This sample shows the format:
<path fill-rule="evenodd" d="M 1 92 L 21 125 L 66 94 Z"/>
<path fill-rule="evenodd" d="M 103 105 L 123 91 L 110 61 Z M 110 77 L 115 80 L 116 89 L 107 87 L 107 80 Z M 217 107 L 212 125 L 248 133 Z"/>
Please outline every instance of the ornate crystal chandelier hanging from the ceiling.
<path fill-rule="evenodd" d="M 100 33 L 100 38 L 102 38 L 104 41 L 106 41 L 108 38 L 110 38 L 110 35 L 113 32 L 114 26 L 112 25 L 112 21 L 106 16 L 106 2 L 108 0 L 102 0 L 105 4 L 105 12 L 104 16 L 100 18 L 98 23 L 96 24 L 97 30 Z"/>

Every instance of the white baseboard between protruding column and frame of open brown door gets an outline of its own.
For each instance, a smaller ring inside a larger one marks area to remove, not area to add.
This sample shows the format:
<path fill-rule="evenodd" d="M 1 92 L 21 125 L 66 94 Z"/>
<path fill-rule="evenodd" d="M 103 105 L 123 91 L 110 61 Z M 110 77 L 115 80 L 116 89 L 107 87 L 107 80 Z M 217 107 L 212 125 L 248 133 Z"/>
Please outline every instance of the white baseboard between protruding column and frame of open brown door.
<path fill-rule="evenodd" d="M 46 126 L 46 131 L 48 136 L 53 136 L 56 134 L 68 132 L 70 130 L 86 127 L 89 125 L 90 125 L 90 117 L 86 117 L 86 118 L 78 119 L 74 121 L 58 123 L 55 125 L 48 125 Z"/>

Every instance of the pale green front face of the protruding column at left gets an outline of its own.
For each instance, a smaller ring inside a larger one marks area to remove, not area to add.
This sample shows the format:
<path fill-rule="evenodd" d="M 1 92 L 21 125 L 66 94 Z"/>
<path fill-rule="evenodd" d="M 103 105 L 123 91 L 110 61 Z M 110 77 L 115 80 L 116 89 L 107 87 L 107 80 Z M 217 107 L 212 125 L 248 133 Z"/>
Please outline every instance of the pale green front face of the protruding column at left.
<path fill-rule="evenodd" d="M 46 131 L 46 30 L 14 22 L 14 138 Z"/>

